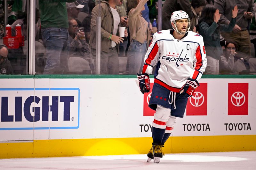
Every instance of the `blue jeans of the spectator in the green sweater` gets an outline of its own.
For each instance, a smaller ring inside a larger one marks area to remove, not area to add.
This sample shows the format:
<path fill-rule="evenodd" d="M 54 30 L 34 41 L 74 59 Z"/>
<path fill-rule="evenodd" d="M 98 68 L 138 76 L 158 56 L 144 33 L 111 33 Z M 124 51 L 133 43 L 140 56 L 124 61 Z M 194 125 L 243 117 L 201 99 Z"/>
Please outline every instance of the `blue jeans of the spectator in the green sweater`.
<path fill-rule="evenodd" d="M 44 74 L 64 74 L 69 51 L 68 30 L 66 28 L 43 28 L 42 39 L 47 55 Z"/>

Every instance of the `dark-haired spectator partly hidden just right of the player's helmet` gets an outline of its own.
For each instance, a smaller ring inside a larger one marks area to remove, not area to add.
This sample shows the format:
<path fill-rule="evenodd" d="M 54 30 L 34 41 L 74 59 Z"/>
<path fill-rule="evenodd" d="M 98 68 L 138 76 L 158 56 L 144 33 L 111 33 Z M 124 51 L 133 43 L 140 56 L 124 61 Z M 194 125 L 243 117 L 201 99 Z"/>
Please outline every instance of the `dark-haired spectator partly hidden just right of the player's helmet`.
<path fill-rule="evenodd" d="M 207 4 L 205 0 L 192 0 L 191 1 L 191 10 L 193 12 L 193 17 L 190 20 L 190 30 L 189 31 L 198 31 L 196 30 L 196 25 L 198 24 L 199 16 L 204 9 L 204 6 Z"/>

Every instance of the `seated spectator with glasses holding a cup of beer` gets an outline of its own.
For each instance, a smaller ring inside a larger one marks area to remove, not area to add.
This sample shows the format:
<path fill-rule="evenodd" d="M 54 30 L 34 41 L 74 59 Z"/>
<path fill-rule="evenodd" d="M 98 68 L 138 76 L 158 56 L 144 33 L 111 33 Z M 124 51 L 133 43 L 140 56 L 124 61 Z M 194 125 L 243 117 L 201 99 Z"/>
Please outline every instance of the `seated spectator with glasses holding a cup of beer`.
<path fill-rule="evenodd" d="M 69 56 L 83 56 L 89 63 L 92 63 L 91 50 L 85 41 L 84 31 L 78 32 L 78 24 L 74 18 L 68 18 L 68 25 Z"/>

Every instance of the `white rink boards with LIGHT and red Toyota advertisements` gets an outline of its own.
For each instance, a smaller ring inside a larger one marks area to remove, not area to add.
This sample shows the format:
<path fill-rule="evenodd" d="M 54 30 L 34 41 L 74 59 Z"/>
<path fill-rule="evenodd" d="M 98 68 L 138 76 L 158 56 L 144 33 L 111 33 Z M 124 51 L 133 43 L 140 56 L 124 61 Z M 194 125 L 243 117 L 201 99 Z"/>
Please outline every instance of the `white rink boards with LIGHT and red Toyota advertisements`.
<path fill-rule="evenodd" d="M 151 137 L 151 91 L 142 94 L 135 79 L 2 78 L 0 140 Z M 199 83 L 172 136 L 256 134 L 255 79 Z"/>

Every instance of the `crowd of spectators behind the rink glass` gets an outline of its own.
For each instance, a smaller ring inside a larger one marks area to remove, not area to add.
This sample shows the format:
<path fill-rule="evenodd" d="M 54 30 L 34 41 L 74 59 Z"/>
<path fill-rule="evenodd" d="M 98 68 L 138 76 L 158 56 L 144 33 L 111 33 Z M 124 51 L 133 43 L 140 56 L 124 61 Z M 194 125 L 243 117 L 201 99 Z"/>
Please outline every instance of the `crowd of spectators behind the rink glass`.
<path fill-rule="evenodd" d="M 190 31 L 204 37 L 204 74 L 256 74 L 256 0 L 162 3 L 162 30 L 172 29 L 173 11 L 183 10 Z M 0 74 L 28 74 L 28 6 L 27 0 L 0 0 Z M 140 73 L 160 31 L 157 0 L 36 0 L 35 6 L 35 74 L 97 74 L 98 16 L 100 74 Z"/>

